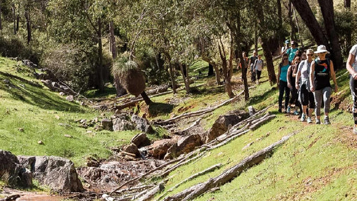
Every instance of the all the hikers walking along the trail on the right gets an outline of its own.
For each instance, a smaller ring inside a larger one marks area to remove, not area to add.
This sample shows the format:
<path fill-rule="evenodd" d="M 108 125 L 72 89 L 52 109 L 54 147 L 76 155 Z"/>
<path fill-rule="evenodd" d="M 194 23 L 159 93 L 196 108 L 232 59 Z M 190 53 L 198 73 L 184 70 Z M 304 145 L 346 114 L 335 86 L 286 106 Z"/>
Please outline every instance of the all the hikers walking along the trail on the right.
<path fill-rule="evenodd" d="M 332 90 L 337 92 L 337 80 L 333 61 L 326 57 L 329 54 L 325 45 L 319 45 L 317 50 L 308 49 L 305 52 L 298 49 L 298 43 L 289 40 L 285 41 L 282 47 L 282 61 L 278 67 L 278 89 L 279 99 L 278 112 L 291 113 L 294 105 L 294 114 L 298 115 L 300 121 L 307 121 L 308 124 L 331 124 L 328 113 L 330 112 L 330 98 Z M 357 45 L 354 45 L 347 59 L 346 68 L 350 74 L 350 89 L 354 101 L 353 133 L 357 134 Z M 248 63 L 251 73 L 251 81 L 259 83 L 261 70 L 264 61 L 261 55 L 253 52 L 249 59 L 243 52 L 243 61 Z M 248 68 L 249 68 L 248 67 Z M 333 80 L 331 86 L 330 80 Z M 285 98 L 284 98 L 285 94 Z M 290 96 L 291 94 L 291 96 Z M 284 108 L 282 100 L 284 98 Z M 321 107 L 324 107 L 324 121 L 321 121 Z M 283 110 L 284 109 L 284 110 Z M 312 117 L 314 112 L 315 117 Z M 314 121 L 314 122 L 313 122 Z"/>

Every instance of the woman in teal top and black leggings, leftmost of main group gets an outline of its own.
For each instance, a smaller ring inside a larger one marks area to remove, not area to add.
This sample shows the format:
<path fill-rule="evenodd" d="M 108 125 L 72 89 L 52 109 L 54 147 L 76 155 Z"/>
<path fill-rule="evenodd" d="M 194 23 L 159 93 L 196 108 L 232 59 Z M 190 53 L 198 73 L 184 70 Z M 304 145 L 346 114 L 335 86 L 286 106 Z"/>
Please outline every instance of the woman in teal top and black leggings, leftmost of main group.
<path fill-rule="evenodd" d="M 290 89 L 287 87 L 287 69 L 290 66 L 290 62 L 288 61 L 288 54 L 282 54 L 282 61 L 279 64 L 278 68 L 278 89 L 279 89 L 279 112 L 282 112 L 282 97 L 284 96 L 285 91 L 285 103 L 284 103 L 284 112 L 287 111 L 287 105 L 289 103 L 289 95 Z M 290 111 L 289 111 L 290 112 Z"/>

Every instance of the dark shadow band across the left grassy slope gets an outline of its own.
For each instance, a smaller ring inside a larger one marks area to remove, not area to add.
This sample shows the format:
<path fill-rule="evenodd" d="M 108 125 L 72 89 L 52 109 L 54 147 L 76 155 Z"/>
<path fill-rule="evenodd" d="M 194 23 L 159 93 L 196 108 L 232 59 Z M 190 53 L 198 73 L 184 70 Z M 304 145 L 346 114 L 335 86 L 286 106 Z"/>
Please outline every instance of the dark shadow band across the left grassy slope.
<path fill-rule="evenodd" d="M 0 80 L 3 79 L 10 80 L 8 77 L 0 76 Z M 14 99 L 30 105 L 36 105 L 45 110 L 84 112 L 79 105 L 70 103 L 63 98 L 57 97 L 55 94 L 50 94 L 42 88 L 33 87 L 28 84 L 14 84 L 12 81 L 6 84 L 0 81 L 0 90 L 6 91 Z"/>

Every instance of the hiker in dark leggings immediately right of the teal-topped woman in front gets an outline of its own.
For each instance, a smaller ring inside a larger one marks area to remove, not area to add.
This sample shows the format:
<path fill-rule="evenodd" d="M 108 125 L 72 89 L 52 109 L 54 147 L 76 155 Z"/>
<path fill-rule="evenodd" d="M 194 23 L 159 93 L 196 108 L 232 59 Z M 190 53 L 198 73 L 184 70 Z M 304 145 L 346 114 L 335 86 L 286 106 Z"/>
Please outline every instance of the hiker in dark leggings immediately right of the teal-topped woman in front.
<path fill-rule="evenodd" d="M 295 105 L 294 115 L 299 115 L 298 109 L 300 104 L 298 102 L 298 90 L 295 87 L 296 82 L 296 72 L 298 71 L 298 64 L 300 63 L 300 57 L 295 57 L 291 66 L 287 69 L 287 87 L 289 87 L 291 92 L 291 98 L 289 105 L 287 106 L 287 111 L 290 113 L 291 104 Z M 301 111 L 301 110 L 300 110 Z"/>

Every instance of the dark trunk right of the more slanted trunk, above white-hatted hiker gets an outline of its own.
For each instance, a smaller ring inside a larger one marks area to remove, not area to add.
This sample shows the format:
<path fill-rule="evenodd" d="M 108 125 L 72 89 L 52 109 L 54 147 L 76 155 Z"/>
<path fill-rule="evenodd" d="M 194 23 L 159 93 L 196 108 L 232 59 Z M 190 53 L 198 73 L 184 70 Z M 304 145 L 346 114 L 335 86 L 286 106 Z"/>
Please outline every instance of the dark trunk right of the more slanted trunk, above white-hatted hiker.
<path fill-rule="evenodd" d="M 338 40 L 337 33 L 335 31 L 335 15 L 333 13 L 333 0 L 318 0 L 321 8 L 322 16 L 324 17 L 324 24 L 328 38 L 331 43 L 331 59 L 333 60 L 333 66 L 335 68 L 342 68 L 342 54 L 340 41 Z"/>

